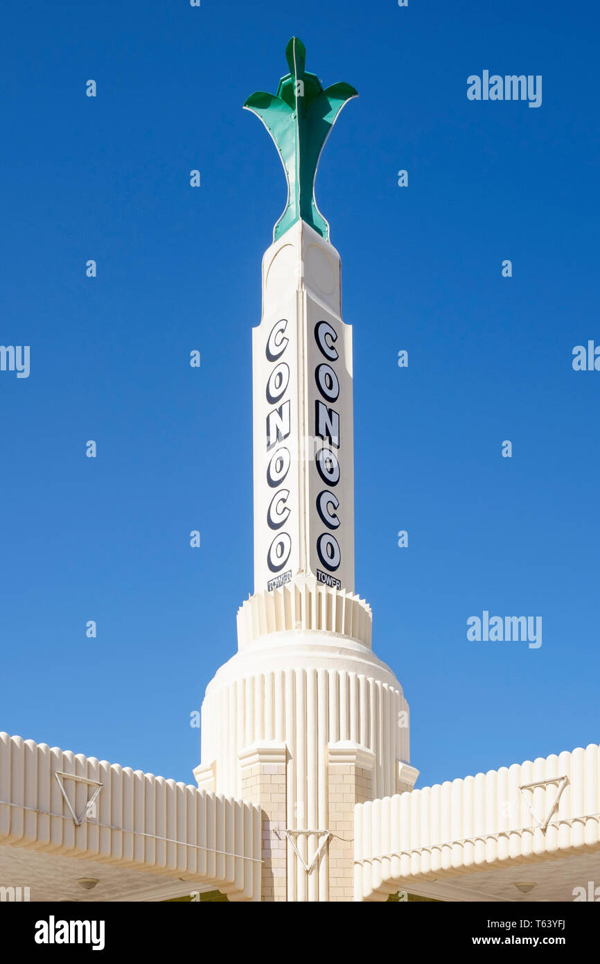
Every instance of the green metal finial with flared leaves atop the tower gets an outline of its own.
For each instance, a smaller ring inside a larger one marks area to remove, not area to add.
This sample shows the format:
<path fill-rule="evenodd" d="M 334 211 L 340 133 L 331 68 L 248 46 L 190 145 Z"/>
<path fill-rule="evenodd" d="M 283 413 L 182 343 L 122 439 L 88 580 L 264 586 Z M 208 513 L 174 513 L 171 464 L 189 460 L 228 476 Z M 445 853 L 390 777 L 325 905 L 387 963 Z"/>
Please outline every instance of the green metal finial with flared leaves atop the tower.
<path fill-rule="evenodd" d="M 274 241 L 300 220 L 328 240 L 329 226 L 315 201 L 317 165 L 338 114 L 357 93 L 343 82 L 324 91 L 316 74 L 304 70 L 306 50 L 297 37 L 285 56 L 290 72 L 277 93 L 251 94 L 244 104 L 271 134 L 287 177 L 288 202 L 274 227 Z"/>

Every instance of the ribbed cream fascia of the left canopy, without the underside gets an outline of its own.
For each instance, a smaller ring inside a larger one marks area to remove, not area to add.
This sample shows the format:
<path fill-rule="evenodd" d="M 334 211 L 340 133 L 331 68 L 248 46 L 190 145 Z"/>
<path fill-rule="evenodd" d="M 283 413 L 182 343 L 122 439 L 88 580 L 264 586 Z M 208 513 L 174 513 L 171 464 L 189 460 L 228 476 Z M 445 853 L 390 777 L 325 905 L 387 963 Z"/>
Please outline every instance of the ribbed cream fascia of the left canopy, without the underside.
<path fill-rule="evenodd" d="M 95 817 L 86 817 L 98 784 Z M 256 805 L 0 733 L 0 845 L 7 844 L 212 885 L 230 900 L 260 899 Z"/>

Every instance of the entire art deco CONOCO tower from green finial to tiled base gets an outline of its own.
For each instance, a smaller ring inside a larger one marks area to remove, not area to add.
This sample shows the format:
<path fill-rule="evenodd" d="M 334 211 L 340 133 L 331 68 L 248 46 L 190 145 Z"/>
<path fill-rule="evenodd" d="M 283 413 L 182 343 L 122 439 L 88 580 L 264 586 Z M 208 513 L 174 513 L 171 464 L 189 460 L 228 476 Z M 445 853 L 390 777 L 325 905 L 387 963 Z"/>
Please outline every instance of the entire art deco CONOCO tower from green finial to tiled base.
<path fill-rule="evenodd" d="M 252 337 L 254 593 L 202 705 L 198 786 L 259 803 L 263 900 L 352 899 L 354 804 L 410 789 L 408 707 L 354 593 L 352 329 L 314 200 L 326 137 L 356 92 L 323 90 L 294 38 L 269 130 L 288 202 L 263 257 Z"/>

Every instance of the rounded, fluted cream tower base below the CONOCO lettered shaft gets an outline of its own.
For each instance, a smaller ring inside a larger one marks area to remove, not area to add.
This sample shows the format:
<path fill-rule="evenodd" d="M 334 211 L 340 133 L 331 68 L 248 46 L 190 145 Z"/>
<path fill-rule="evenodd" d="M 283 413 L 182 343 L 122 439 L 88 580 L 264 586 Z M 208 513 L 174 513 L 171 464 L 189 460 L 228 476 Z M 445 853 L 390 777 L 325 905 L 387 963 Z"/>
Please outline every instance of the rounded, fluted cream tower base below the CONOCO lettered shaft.
<path fill-rule="evenodd" d="M 336 629 L 354 628 L 354 638 Z M 292 628 L 296 627 L 296 628 Z M 263 808 L 263 899 L 352 899 L 353 807 L 408 789 L 408 706 L 371 610 L 304 577 L 251 597 L 209 683 L 198 784 Z"/>

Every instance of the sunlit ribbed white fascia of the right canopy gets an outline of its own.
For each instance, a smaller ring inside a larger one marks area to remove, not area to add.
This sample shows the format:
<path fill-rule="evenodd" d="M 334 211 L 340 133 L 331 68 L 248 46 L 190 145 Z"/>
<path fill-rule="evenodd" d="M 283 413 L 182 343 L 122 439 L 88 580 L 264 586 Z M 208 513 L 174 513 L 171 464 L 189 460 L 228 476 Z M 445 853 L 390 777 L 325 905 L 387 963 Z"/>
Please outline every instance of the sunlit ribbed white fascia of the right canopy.
<path fill-rule="evenodd" d="M 358 804 L 355 899 L 597 850 L 599 776 L 600 749 L 591 743 Z"/>

